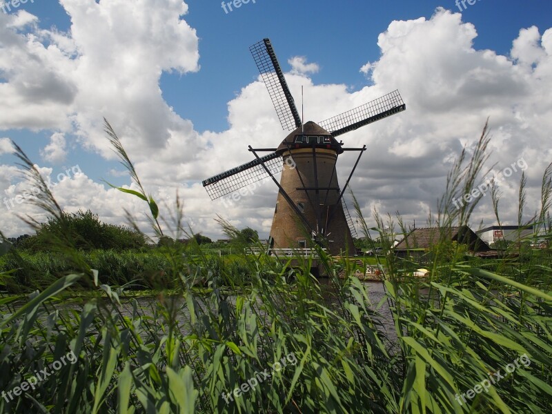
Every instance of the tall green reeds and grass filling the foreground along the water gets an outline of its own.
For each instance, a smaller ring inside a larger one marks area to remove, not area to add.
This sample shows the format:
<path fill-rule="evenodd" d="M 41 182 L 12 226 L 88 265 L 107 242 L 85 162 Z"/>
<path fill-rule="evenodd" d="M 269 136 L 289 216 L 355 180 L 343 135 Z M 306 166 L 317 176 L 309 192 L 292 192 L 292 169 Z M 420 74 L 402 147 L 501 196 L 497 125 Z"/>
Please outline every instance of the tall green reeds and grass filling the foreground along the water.
<path fill-rule="evenodd" d="M 106 127 L 137 179 L 117 135 Z M 451 200 L 477 182 L 488 139 L 484 133 L 471 159 L 462 153 L 440 209 L 429 220 L 432 224 L 446 229 L 469 222 L 473 206 L 454 210 Z M 39 180 L 21 150 L 19 156 Z M 547 210 L 550 180 L 543 183 L 542 209 Z M 523 186 L 522 181 L 520 195 Z M 153 231 L 166 235 L 155 201 L 143 188 L 134 195 L 148 204 Z M 523 200 L 520 196 L 521 209 Z M 37 202 L 51 215 L 62 216 L 47 191 Z M 177 204 L 177 212 L 167 220 L 173 239 L 186 233 L 181 201 Z M 376 213 L 375 221 L 383 243 L 391 246 L 394 220 Z M 220 222 L 230 235 L 237 232 Z M 369 235 L 364 219 L 362 225 Z M 404 228 L 400 217 L 396 225 Z M 103 284 L 105 270 L 93 268 L 70 238 L 59 237 L 52 241 L 52 250 L 74 273 L 57 278 L 24 303 L 10 295 L 0 299 L 0 389 L 12 390 L 70 351 L 77 362 L 12 401 L 2 398 L 0 411 L 551 412 L 549 250 L 507 255 L 491 272 L 473 266 L 473 259 L 445 234 L 435 246 L 428 280 L 408 277 L 419 266 L 415 260 L 386 257 L 386 295 L 378 304 L 371 302 L 369 285 L 352 276 L 350 261 L 335 262 L 323 250 L 318 255 L 329 291 L 310 273 L 313 258 L 292 268 L 265 253 L 244 255 L 240 266 L 250 276 L 239 278 L 193 244 L 161 249 L 168 266 L 163 278 L 153 275 L 150 283 L 162 289 L 169 280 L 176 293 L 160 293 L 155 302 L 144 304 L 126 299 L 124 286 Z M 59 295 L 67 297 L 77 284 L 88 286 L 91 298 L 61 302 Z M 210 290 L 199 294 L 194 288 L 198 284 Z M 233 291 L 228 293 L 226 286 Z M 394 335 L 385 334 L 384 315 L 393 321 Z M 463 402 L 462 393 L 489 378 L 489 372 L 504 374 L 504 367 L 521 355 L 529 358 L 529 366 L 516 367 L 488 393 L 464 397 Z M 282 358 L 288 364 L 275 370 L 273 364 Z M 265 370 L 269 378 L 237 391 Z M 234 392 L 239 397 L 233 401 L 222 394 Z"/>

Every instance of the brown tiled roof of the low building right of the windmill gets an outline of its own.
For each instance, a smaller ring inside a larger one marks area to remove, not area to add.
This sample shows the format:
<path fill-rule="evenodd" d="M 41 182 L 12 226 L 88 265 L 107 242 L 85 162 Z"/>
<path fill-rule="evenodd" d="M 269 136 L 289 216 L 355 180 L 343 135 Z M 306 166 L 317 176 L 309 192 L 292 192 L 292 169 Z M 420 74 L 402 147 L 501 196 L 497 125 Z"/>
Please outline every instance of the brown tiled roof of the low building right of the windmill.
<path fill-rule="evenodd" d="M 491 250 L 479 236 L 473 233 L 468 226 L 461 227 L 426 227 L 415 228 L 402 239 L 394 250 L 408 250 L 413 248 L 430 248 L 440 240 L 451 240 L 460 244 L 468 244 L 469 249 L 475 252 Z"/>

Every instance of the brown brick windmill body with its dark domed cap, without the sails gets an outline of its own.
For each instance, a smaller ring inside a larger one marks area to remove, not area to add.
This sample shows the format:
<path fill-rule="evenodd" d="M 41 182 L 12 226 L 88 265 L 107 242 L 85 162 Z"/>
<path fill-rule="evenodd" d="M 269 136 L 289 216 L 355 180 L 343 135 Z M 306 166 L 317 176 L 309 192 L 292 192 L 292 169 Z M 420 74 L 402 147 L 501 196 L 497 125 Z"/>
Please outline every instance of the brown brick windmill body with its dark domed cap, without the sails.
<path fill-rule="evenodd" d="M 274 248 L 312 248 L 314 235 L 326 235 L 332 255 L 355 253 L 342 201 L 335 163 L 343 152 L 342 145 L 330 132 L 314 122 L 291 132 L 276 151 L 286 168 L 280 186 L 304 215 L 309 226 L 297 217 L 282 191 L 278 192 L 270 237 Z M 287 166 L 293 166 L 288 168 Z"/>

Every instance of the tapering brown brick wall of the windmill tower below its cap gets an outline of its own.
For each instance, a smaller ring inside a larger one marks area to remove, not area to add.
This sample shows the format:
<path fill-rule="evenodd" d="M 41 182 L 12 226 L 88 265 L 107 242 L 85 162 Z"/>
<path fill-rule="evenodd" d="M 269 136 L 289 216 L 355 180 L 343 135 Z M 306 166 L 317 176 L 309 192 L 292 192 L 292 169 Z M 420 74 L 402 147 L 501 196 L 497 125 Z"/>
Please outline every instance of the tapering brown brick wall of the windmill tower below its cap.
<path fill-rule="evenodd" d="M 295 163 L 295 168 L 284 168 L 280 185 L 290 199 L 295 202 L 295 205 L 299 206 L 300 210 L 304 210 L 304 216 L 309 224 L 313 228 L 317 228 L 315 190 L 306 192 L 302 188 L 316 188 L 317 184 L 318 188 L 339 188 L 335 172 L 337 153 L 335 150 L 316 148 L 316 157 L 313 157 L 312 148 L 299 148 L 291 151 L 293 162 L 288 160 L 289 152 L 284 152 L 284 162 L 285 165 Z M 317 167 L 318 183 L 315 180 L 314 162 Z M 324 233 L 330 233 L 328 236 L 328 239 L 331 240 L 328 246 L 329 253 L 339 255 L 348 252 L 353 255 L 355 253 L 353 237 L 348 228 L 342 201 L 337 204 L 338 197 L 337 190 L 319 190 L 320 222 Z M 274 239 L 274 248 L 313 247 L 311 231 L 305 228 L 282 193 L 278 193 L 270 236 Z"/>

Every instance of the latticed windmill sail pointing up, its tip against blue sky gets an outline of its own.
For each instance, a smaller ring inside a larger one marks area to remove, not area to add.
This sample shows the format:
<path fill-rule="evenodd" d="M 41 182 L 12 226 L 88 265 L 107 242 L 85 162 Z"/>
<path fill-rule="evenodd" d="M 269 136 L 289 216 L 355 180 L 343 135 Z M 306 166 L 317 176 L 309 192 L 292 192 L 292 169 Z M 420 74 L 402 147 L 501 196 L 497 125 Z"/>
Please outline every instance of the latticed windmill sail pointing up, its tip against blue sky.
<path fill-rule="evenodd" d="M 268 89 L 270 99 L 284 130 L 294 130 L 302 125 L 301 117 L 295 107 L 286 78 L 280 69 L 278 60 L 270 44 L 270 40 L 263 39 L 249 48 L 261 77 Z"/>

